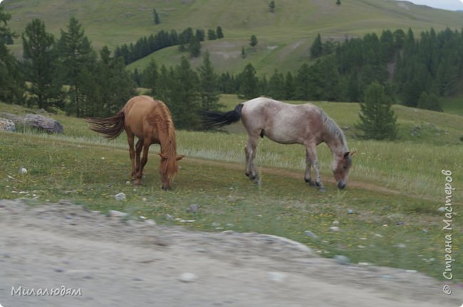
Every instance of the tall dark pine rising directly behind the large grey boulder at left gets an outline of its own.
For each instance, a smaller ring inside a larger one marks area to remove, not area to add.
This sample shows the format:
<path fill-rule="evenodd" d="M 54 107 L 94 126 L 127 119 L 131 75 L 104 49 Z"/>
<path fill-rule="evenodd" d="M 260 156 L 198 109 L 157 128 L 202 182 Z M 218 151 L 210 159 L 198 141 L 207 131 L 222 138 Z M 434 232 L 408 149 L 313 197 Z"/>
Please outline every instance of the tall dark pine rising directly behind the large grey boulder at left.
<path fill-rule="evenodd" d="M 57 107 L 59 88 L 56 85 L 55 38 L 46 33 L 45 23 L 33 19 L 22 34 L 24 71 L 30 82 L 28 104 L 50 110 Z M 58 104 L 59 107 L 59 104 Z"/>

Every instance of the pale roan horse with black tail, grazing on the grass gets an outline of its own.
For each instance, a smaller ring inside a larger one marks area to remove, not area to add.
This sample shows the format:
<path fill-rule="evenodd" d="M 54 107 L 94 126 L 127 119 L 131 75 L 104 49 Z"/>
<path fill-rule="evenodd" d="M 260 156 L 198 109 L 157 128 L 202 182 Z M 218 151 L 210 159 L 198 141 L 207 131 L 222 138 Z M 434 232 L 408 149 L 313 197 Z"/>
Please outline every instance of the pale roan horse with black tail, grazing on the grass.
<path fill-rule="evenodd" d="M 274 99 L 259 97 L 238 104 L 229 112 L 202 112 L 204 124 L 209 128 L 221 127 L 238 122 L 248 132 L 246 153 L 246 176 L 255 183 L 261 183 L 254 160 L 259 136 L 267 136 L 280 144 L 303 144 L 306 146 L 306 175 L 304 179 L 319 190 L 326 190 L 321 183 L 316 146 L 325 142 L 333 153 L 331 170 L 338 188 L 348 181 L 352 154 L 349 152 L 343 131 L 333 119 L 313 104 L 286 104 Z M 315 169 L 315 182 L 311 178 L 311 166 Z"/>

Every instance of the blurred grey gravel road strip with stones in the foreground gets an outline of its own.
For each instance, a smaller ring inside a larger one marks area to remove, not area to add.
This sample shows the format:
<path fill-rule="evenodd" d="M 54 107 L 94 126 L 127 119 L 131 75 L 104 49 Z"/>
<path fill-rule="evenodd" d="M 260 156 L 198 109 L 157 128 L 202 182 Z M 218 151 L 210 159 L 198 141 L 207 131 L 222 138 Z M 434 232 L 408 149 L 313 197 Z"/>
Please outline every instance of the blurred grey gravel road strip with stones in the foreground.
<path fill-rule="evenodd" d="M 81 295 L 61 296 L 62 288 Z M 24 295 L 32 289 L 35 296 Z M 60 295 L 37 295 L 55 289 Z M 462 299 L 420 273 L 339 264 L 280 237 L 194 232 L 66 202 L 0 200 L 4 307 L 454 307 Z"/>

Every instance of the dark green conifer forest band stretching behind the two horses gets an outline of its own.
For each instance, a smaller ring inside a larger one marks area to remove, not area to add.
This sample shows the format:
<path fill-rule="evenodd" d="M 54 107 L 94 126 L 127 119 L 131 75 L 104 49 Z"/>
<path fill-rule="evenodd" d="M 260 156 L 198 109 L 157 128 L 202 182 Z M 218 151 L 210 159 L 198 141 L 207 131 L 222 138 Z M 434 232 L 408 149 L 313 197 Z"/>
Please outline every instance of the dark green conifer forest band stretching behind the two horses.
<path fill-rule="evenodd" d="M 12 33 L 10 18 L 0 6 L 0 100 L 51 112 L 61 109 L 78 117 L 114 114 L 137 94 L 137 87 L 145 87 L 166 102 L 179 128 L 196 129 L 199 117 L 195 114 L 219 108 L 220 93 L 243 99 L 266 95 L 285 100 L 363 102 L 365 89 L 373 82 L 383 85 L 395 103 L 439 111 L 439 99 L 452 95 L 463 77 L 463 31 L 449 28 L 439 33 L 430 29 L 417 37 L 411 29 L 385 30 L 380 36 L 369 33 L 342 42 L 323 41 L 318 35 L 307 55 L 310 65 L 284 73 L 275 68 L 271 76 L 258 77 L 252 63 L 236 75 L 217 74 L 200 45 L 204 60 L 198 70 L 189 65 L 192 53 L 185 53 L 175 67 L 152 60 L 142 71 L 126 70 L 126 64 L 149 54 L 145 43 L 155 50 L 180 44 L 186 51 L 192 42 L 197 46 L 204 41 L 201 30 L 194 33 L 189 28 L 180 36 L 173 31 L 156 33 L 115 52 L 107 47 L 97 52 L 76 18 L 71 18 L 59 38 L 47 33 L 40 19 L 28 23 L 21 35 Z M 223 37 L 222 28 L 217 28 L 219 32 Z M 163 43 L 157 44 L 158 38 Z M 23 44 L 22 60 L 8 49 L 16 39 Z"/>

